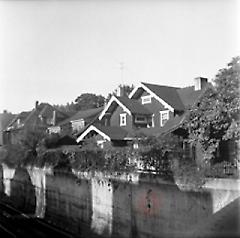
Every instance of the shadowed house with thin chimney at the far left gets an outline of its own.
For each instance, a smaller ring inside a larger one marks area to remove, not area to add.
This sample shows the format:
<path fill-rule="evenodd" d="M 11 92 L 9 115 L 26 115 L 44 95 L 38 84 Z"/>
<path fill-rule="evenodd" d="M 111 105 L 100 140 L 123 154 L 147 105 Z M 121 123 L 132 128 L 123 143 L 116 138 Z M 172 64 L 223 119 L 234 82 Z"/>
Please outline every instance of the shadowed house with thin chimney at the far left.
<path fill-rule="evenodd" d="M 40 129 L 46 131 L 50 125 L 56 125 L 68 115 L 60 112 L 48 103 L 37 101 L 31 111 L 16 115 L 4 130 L 4 144 L 16 144 L 21 140 L 23 131 Z"/>

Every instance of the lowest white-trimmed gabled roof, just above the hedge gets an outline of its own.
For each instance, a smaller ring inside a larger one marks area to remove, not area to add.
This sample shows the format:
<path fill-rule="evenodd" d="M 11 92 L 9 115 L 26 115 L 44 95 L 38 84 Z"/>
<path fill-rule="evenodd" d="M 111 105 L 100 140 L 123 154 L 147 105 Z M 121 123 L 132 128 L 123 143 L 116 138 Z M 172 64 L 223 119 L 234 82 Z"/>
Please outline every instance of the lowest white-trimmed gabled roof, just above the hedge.
<path fill-rule="evenodd" d="M 83 133 L 77 138 L 79 143 L 84 139 L 84 137 L 89 134 L 91 131 L 95 131 L 101 135 L 104 139 L 111 140 L 127 140 L 128 132 L 118 126 L 100 126 L 100 125 L 90 125 Z"/>

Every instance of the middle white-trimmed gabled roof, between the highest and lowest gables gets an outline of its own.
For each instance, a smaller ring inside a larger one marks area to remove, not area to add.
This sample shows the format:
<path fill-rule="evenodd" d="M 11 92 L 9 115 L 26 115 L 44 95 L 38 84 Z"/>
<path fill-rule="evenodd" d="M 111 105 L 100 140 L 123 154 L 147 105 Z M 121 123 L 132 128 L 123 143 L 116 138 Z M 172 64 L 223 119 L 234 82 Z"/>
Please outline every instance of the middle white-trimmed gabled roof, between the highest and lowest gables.
<path fill-rule="evenodd" d="M 99 120 L 103 118 L 105 113 L 108 112 L 113 112 L 117 106 L 122 107 L 124 111 L 126 111 L 129 115 L 131 114 L 145 114 L 149 115 L 151 112 L 144 107 L 138 100 L 136 99 L 131 99 L 126 96 L 123 97 L 116 97 L 112 96 L 111 99 L 109 100 L 108 104 L 102 111 L 102 113 L 99 115 Z"/>

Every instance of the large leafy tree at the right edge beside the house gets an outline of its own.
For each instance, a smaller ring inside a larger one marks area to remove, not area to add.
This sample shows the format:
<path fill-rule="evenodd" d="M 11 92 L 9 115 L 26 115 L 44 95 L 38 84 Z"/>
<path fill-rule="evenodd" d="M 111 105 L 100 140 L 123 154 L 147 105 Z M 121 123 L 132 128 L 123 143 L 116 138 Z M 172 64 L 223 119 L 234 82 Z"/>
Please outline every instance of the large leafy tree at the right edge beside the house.
<path fill-rule="evenodd" d="M 219 143 L 240 136 L 240 57 L 219 70 L 213 88 L 190 110 L 187 119 L 189 141 L 200 143 L 210 160 Z"/>

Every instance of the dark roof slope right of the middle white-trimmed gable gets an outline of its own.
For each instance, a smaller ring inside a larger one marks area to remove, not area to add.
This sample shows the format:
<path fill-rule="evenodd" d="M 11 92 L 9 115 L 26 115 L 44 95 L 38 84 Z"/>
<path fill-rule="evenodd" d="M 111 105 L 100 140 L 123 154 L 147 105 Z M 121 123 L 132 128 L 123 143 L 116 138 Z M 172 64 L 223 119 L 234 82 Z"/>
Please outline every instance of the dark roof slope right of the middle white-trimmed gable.
<path fill-rule="evenodd" d="M 116 97 L 126 108 L 133 114 L 152 114 L 146 107 L 144 107 L 138 100 L 130 99 L 128 97 Z"/>

